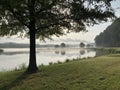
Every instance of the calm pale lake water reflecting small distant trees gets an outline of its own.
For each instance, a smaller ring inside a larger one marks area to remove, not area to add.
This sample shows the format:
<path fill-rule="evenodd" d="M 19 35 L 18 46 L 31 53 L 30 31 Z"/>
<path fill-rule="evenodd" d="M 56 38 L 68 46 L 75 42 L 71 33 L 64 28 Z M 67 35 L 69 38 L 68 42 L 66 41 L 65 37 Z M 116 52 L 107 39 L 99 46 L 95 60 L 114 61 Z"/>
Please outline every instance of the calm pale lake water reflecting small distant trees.
<path fill-rule="evenodd" d="M 94 57 L 95 51 L 80 48 L 37 48 L 37 65 L 64 62 L 66 59 Z M 7 48 L 0 54 L 0 71 L 28 65 L 28 48 Z"/>

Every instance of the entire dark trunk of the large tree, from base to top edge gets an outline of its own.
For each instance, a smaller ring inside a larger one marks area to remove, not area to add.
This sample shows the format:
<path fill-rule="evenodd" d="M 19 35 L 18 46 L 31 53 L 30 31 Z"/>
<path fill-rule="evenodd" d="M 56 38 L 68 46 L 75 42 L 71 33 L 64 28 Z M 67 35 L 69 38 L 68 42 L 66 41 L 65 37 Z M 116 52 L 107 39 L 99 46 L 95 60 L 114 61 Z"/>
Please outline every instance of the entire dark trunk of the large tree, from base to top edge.
<path fill-rule="evenodd" d="M 29 33 L 30 33 L 30 56 L 29 56 L 29 66 L 27 69 L 28 73 L 35 73 L 38 71 L 36 64 L 36 28 L 35 28 L 35 0 L 29 1 L 29 12 L 30 12 L 30 22 L 29 22 Z"/>

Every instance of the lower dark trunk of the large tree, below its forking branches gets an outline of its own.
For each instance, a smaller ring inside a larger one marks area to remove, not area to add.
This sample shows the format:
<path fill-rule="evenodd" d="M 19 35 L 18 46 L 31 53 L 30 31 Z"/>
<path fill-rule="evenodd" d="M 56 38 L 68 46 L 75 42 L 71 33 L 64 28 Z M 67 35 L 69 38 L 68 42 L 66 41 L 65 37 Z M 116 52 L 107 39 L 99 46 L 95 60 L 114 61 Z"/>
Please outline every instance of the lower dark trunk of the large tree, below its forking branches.
<path fill-rule="evenodd" d="M 27 69 L 28 73 L 36 73 L 38 71 L 36 64 L 36 40 L 35 40 L 35 29 L 32 26 L 30 29 L 30 55 L 29 55 L 29 66 Z"/>

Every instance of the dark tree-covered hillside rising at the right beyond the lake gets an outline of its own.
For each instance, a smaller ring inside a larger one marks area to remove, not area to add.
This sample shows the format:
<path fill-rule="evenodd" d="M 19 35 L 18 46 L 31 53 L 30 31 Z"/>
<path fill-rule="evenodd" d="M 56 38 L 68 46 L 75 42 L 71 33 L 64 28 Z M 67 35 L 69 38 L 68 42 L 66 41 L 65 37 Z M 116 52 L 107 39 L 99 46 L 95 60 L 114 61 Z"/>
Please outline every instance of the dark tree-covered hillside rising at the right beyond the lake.
<path fill-rule="evenodd" d="M 107 29 L 95 38 L 96 46 L 120 46 L 120 18 L 116 19 Z"/>

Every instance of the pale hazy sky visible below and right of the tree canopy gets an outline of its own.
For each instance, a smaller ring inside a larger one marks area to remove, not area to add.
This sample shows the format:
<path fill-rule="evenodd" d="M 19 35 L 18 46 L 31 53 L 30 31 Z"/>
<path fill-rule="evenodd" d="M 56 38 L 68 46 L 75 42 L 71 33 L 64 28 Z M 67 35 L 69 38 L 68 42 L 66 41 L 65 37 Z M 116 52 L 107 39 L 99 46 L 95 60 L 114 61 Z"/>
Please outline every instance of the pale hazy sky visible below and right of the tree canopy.
<path fill-rule="evenodd" d="M 120 0 L 113 1 L 112 7 L 115 10 L 115 14 L 117 17 L 120 17 Z M 88 32 L 80 32 L 80 33 L 70 33 L 59 38 L 53 37 L 53 40 L 46 40 L 46 42 L 42 42 L 37 40 L 38 44 L 56 44 L 56 43 L 78 43 L 81 41 L 94 43 L 94 38 L 96 35 L 99 35 L 103 32 L 112 22 L 106 22 L 99 25 L 94 25 L 91 27 L 87 27 Z M 29 39 L 27 38 L 18 38 L 17 36 L 13 36 L 11 38 L 8 37 L 0 37 L 0 43 L 5 42 L 16 42 L 16 43 L 29 43 Z"/>

